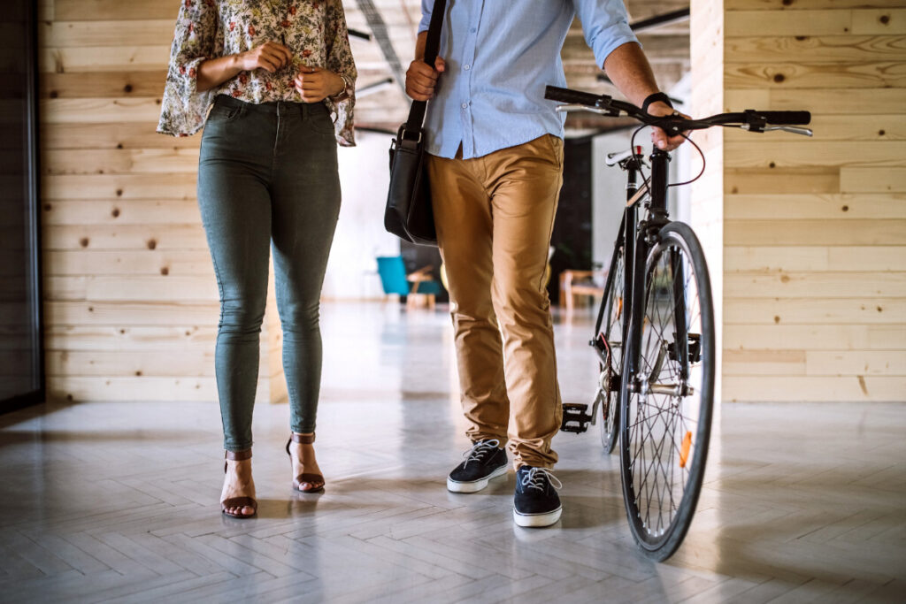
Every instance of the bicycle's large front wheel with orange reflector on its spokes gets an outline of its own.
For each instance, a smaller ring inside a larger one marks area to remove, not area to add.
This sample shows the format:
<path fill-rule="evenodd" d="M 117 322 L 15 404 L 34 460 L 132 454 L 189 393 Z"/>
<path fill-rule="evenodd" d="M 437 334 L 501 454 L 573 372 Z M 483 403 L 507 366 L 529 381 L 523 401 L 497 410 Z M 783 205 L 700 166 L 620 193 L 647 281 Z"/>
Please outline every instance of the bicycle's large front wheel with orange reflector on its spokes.
<path fill-rule="evenodd" d="M 621 474 L 632 535 L 662 561 L 695 513 L 714 398 L 708 266 L 688 225 L 660 230 L 640 285 L 622 370 Z"/>

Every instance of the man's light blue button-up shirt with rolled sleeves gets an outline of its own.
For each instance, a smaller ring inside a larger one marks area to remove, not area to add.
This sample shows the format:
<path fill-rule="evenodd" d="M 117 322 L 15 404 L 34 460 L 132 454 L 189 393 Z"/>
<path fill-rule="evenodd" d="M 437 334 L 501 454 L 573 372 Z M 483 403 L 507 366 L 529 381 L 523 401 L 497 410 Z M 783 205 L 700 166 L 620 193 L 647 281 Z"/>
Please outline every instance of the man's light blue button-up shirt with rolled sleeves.
<path fill-rule="evenodd" d="M 434 0 L 422 0 L 419 33 Z M 479 158 L 545 134 L 563 137 L 563 114 L 545 86 L 565 86 L 560 51 L 575 14 L 598 65 L 618 46 L 638 42 L 622 0 L 448 0 L 440 36 L 440 75 L 428 103 L 428 152 Z"/>

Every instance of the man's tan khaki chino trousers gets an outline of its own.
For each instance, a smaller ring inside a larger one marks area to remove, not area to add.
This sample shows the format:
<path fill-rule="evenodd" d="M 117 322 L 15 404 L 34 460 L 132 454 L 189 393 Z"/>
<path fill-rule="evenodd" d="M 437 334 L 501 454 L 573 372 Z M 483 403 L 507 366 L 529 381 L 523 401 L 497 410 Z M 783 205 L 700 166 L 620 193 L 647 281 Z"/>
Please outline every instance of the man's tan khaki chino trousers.
<path fill-rule="evenodd" d="M 553 467 L 563 409 L 544 282 L 563 140 L 545 135 L 481 158 L 429 156 L 428 169 L 466 434 L 508 442 L 516 468 Z"/>

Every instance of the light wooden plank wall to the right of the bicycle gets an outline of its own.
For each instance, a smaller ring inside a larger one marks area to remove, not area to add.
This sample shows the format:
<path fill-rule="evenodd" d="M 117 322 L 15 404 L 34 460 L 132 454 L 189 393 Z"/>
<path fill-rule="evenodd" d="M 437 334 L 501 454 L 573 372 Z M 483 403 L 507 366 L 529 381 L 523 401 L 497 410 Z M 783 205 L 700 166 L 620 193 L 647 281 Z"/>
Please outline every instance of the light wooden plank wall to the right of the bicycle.
<path fill-rule="evenodd" d="M 727 110 L 814 114 L 814 139 L 724 134 L 723 398 L 906 400 L 906 8 L 701 4 Z"/>

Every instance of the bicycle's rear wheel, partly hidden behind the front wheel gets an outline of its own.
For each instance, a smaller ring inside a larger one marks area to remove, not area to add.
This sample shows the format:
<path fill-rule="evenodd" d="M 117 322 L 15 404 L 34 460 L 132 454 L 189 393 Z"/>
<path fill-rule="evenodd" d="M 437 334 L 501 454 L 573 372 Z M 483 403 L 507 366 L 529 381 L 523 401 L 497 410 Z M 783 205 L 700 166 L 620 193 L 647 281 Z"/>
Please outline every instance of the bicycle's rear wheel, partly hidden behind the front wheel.
<path fill-rule="evenodd" d="M 620 379 L 622 370 L 622 338 L 625 306 L 623 304 L 623 285 L 626 273 L 626 262 L 623 257 L 625 248 L 618 241 L 613 248 L 611 266 L 607 271 L 607 284 L 601 299 L 598 321 L 595 323 L 595 337 L 608 342 L 611 350 L 611 367 L 599 364 L 598 398 L 601 401 L 601 446 L 608 454 L 613 453 L 620 436 L 620 392 L 610 387 L 611 379 Z M 615 314 L 614 314 L 615 312 Z M 604 319 L 606 318 L 606 322 Z M 602 322 L 604 323 L 602 331 Z M 619 345 L 614 346 L 619 338 Z"/>

